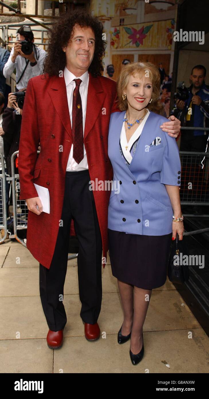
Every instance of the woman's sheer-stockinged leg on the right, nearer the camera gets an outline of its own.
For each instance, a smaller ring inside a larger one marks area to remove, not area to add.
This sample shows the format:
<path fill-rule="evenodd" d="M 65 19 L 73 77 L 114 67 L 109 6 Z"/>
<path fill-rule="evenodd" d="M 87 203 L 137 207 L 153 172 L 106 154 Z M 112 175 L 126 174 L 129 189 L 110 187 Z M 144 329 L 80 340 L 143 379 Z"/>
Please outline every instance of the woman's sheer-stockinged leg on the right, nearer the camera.
<path fill-rule="evenodd" d="M 134 317 L 131 331 L 130 350 L 133 354 L 138 354 L 142 349 L 143 325 L 146 318 L 152 290 L 144 290 L 134 286 Z"/>

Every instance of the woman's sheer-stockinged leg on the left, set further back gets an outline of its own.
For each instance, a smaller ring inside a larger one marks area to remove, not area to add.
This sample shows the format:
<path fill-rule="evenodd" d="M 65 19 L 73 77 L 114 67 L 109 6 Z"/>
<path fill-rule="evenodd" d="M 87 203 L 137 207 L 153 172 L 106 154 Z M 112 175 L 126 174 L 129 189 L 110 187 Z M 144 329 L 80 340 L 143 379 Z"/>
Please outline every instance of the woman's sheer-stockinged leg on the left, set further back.
<path fill-rule="evenodd" d="M 120 298 L 122 302 L 122 309 L 124 314 L 124 320 L 122 324 L 122 335 L 128 335 L 131 332 L 132 322 L 133 322 L 133 289 L 134 286 L 131 284 L 126 284 L 118 280 L 118 288 L 120 292 Z"/>

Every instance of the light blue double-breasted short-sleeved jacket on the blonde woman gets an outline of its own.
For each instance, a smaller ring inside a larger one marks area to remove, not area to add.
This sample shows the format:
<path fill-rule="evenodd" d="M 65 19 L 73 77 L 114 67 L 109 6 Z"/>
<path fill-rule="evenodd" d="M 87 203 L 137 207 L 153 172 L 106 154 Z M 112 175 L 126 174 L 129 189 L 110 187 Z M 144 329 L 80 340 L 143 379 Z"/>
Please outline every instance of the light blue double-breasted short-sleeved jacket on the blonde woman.
<path fill-rule="evenodd" d="M 119 149 L 125 112 L 110 118 L 108 156 L 120 192 L 110 194 L 108 228 L 140 235 L 172 233 L 173 209 L 164 185 L 180 186 L 181 163 L 175 138 L 160 128 L 168 119 L 150 112 L 128 167 Z M 156 137 L 161 143 L 149 147 Z"/>

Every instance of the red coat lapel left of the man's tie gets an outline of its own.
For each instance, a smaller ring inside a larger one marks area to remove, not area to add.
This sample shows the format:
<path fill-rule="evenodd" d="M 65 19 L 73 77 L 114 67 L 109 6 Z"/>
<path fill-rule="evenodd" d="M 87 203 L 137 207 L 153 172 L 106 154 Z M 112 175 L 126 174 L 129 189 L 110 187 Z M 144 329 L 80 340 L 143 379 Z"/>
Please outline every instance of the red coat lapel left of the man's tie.
<path fill-rule="evenodd" d="M 65 85 L 65 78 L 53 76 L 51 77 L 51 85 L 48 89 L 49 96 L 55 107 L 67 133 L 73 140 L 72 128 L 70 121 L 70 114 L 67 102 L 67 90 Z"/>

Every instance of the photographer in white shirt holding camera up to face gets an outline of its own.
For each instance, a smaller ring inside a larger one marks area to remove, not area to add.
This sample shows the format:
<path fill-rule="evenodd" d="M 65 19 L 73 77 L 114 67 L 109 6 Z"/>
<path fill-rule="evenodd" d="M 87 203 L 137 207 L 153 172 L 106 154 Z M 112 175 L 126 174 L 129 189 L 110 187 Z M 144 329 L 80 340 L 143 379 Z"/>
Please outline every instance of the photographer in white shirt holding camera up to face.
<path fill-rule="evenodd" d="M 16 91 L 27 87 L 30 78 L 43 73 L 46 51 L 34 43 L 30 26 L 22 26 L 17 31 L 18 39 L 12 47 L 10 57 L 4 66 L 4 77 L 10 77 L 16 68 Z M 23 50 L 23 51 L 22 51 Z"/>

